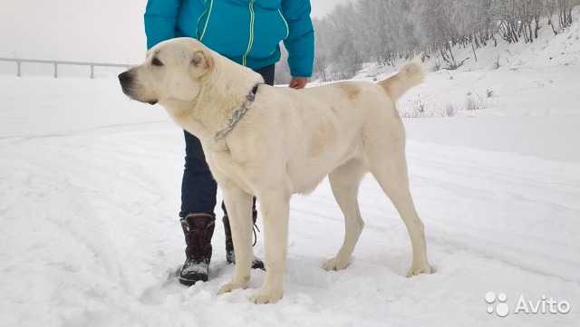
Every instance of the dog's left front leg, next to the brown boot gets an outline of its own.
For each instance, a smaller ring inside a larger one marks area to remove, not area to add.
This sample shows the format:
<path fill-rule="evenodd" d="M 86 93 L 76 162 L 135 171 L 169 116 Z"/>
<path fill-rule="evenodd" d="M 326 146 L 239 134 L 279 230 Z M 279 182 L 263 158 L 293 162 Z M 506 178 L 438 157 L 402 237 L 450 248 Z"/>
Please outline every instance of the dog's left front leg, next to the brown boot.
<path fill-rule="evenodd" d="M 232 281 L 223 285 L 218 294 L 247 288 L 254 257 L 252 253 L 252 196 L 231 184 L 222 188 L 229 225 L 232 229 L 236 269 Z"/>

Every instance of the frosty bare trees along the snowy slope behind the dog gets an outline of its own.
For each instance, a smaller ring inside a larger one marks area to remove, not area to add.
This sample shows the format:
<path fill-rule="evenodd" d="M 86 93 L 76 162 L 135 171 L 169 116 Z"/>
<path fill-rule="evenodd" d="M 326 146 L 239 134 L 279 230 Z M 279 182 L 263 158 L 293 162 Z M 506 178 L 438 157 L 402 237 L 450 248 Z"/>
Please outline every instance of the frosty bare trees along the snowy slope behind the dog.
<path fill-rule="evenodd" d="M 454 46 L 477 49 L 532 43 L 542 22 L 555 34 L 572 24 L 580 0 L 353 0 L 314 21 L 315 72 L 324 80 L 350 78 L 362 63 L 394 64 L 418 53 L 441 57 L 456 69 L 466 58 Z"/>

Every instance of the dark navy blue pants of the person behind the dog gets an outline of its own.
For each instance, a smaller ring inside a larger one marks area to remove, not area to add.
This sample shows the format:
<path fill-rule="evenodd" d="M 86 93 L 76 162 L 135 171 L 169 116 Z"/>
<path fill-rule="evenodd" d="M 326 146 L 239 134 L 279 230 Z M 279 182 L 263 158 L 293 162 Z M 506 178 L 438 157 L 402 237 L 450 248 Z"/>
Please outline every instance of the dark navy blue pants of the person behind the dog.
<path fill-rule="evenodd" d="M 266 84 L 274 85 L 274 65 L 260 68 L 256 72 L 264 77 Z M 189 214 L 198 213 L 215 216 L 218 184 L 211 176 L 199 139 L 187 130 L 183 132 L 185 134 L 185 169 L 181 182 L 179 216 L 183 218 Z M 254 206 L 256 206 L 256 198 L 254 198 Z M 222 208 L 224 214 L 227 215 L 226 206 L 223 203 Z"/>

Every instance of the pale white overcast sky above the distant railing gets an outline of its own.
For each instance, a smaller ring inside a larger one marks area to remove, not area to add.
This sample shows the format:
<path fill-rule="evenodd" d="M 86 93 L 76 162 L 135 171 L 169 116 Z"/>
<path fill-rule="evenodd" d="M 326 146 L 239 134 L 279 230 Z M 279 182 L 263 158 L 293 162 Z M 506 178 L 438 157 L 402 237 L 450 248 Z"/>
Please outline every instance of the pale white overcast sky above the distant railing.
<path fill-rule="evenodd" d="M 313 16 L 348 0 L 311 0 Z M 1 0 L 0 56 L 137 63 L 147 0 Z"/>

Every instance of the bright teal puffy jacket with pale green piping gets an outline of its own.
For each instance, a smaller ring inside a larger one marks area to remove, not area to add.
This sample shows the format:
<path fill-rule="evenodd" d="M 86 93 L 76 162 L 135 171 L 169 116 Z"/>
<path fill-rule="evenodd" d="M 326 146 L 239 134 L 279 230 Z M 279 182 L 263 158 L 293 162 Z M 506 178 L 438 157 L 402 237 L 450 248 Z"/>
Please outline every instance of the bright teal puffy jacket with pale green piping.
<path fill-rule="evenodd" d="M 292 76 L 312 75 L 310 0 L 149 0 L 145 33 L 148 48 L 193 37 L 255 70 L 279 61 L 284 41 Z"/>

